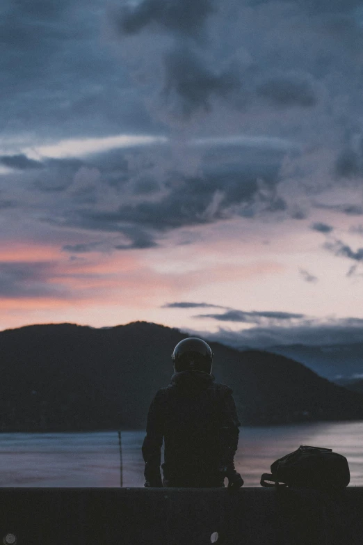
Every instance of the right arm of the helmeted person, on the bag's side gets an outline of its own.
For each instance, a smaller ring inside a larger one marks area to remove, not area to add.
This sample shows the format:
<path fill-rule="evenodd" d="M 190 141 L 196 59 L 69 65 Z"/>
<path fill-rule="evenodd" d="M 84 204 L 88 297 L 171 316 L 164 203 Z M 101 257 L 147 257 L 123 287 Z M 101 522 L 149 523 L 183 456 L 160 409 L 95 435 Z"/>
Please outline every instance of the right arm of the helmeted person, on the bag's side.
<path fill-rule="evenodd" d="M 239 422 L 231 388 L 228 388 L 227 393 L 223 398 L 221 424 L 221 471 L 223 471 L 228 479 L 228 488 L 240 488 L 243 485 L 243 479 L 234 467 L 234 455 L 238 448 L 239 426 L 241 425 L 241 422 Z"/>

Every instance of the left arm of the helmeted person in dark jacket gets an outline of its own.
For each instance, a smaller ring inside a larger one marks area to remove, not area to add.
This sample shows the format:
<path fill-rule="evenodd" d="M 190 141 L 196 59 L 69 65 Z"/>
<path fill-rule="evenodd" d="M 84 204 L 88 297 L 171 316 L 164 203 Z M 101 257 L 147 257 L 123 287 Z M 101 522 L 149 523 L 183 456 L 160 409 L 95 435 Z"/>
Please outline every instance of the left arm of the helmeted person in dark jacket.
<path fill-rule="evenodd" d="M 163 413 L 161 411 L 162 390 L 159 390 L 147 414 L 146 436 L 143 442 L 145 461 L 145 487 L 162 487 L 160 464 L 163 445 Z"/>

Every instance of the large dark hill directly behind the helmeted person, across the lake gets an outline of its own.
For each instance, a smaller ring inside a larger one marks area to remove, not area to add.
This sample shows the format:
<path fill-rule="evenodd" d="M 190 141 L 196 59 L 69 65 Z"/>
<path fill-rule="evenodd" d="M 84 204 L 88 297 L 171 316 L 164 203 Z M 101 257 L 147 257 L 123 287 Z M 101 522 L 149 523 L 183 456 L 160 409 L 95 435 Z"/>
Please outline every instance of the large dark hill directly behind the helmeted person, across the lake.
<path fill-rule="evenodd" d="M 134 322 L 110 329 L 74 324 L 0 332 L 3 431 L 144 428 L 170 354 L 187 335 Z M 268 352 L 211 343 L 213 374 L 229 384 L 243 424 L 363 418 L 363 395 Z"/>

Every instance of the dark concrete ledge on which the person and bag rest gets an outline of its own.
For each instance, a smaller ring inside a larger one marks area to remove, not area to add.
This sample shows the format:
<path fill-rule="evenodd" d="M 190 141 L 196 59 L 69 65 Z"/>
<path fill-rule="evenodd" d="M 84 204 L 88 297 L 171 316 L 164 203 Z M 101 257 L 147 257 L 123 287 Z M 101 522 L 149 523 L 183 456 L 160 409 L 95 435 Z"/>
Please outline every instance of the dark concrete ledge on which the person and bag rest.
<path fill-rule="evenodd" d="M 2 488 L 2 541 L 8 545 L 362 545 L 363 488 L 337 494 L 264 488 L 234 493 Z"/>

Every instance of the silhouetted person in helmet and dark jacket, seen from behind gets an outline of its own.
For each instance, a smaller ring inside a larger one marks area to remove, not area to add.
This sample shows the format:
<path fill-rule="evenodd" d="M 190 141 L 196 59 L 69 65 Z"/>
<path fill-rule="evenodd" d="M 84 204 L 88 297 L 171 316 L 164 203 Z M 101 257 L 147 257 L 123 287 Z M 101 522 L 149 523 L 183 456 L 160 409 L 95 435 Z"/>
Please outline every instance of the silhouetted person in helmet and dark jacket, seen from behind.
<path fill-rule="evenodd" d="M 156 392 L 143 442 L 145 487 L 239 488 L 234 468 L 239 418 L 232 389 L 216 384 L 207 342 L 187 338 L 172 353 L 175 374 Z M 163 480 L 161 446 L 164 440 Z"/>

